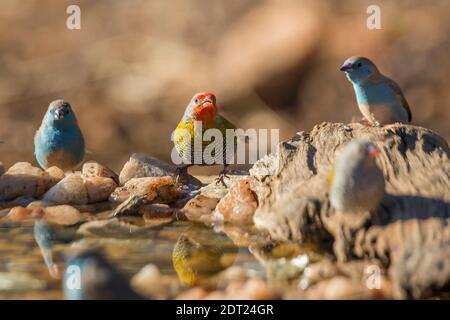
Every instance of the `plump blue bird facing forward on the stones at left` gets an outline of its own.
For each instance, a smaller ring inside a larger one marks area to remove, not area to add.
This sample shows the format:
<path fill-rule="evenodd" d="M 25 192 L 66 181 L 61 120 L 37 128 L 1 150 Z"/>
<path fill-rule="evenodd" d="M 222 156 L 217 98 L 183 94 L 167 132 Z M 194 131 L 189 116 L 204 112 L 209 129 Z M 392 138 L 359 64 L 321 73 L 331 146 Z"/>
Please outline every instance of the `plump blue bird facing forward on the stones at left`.
<path fill-rule="evenodd" d="M 70 171 L 84 159 L 84 138 L 70 104 L 64 100 L 50 103 L 34 136 L 34 153 L 39 165 L 57 166 Z"/>

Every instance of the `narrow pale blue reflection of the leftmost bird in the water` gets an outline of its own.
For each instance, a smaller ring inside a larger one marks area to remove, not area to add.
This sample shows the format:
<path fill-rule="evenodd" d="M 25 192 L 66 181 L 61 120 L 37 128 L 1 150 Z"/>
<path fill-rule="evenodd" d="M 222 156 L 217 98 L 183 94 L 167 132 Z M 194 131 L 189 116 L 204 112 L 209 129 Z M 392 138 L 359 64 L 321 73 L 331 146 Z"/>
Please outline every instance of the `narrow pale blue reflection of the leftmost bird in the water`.
<path fill-rule="evenodd" d="M 41 249 L 42 257 L 45 265 L 52 278 L 58 279 L 61 277 L 58 265 L 53 261 L 52 254 L 52 229 L 50 225 L 44 220 L 36 220 L 34 222 L 34 239 Z"/>

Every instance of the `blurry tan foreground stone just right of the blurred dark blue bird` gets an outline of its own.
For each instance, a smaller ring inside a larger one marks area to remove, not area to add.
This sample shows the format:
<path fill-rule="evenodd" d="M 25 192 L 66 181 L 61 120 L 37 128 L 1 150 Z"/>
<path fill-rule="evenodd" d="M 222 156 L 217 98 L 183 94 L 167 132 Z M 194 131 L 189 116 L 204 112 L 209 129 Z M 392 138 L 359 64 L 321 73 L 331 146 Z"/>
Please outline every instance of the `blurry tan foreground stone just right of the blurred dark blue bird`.
<path fill-rule="evenodd" d="M 178 291 L 179 284 L 176 279 L 162 275 L 154 264 L 148 264 L 131 278 L 131 287 L 148 298 L 168 299 Z"/>

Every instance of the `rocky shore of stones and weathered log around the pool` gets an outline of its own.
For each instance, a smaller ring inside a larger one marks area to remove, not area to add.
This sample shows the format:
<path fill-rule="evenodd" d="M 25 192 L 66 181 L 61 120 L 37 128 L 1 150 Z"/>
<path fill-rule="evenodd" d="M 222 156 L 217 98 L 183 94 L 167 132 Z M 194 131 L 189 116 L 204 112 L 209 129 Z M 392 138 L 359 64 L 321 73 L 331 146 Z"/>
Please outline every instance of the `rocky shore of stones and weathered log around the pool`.
<path fill-rule="evenodd" d="M 381 150 L 387 187 L 375 212 L 346 216 L 331 208 L 326 176 L 353 138 Z M 254 299 L 429 298 L 450 289 L 449 157 L 445 139 L 425 128 L 323 123 L 280 143 L 249 172 L 234 172 L 226 187 L 188 174 L 177 184 L 174 166 L 143 154 L 133 154 L 119 174 L 96 162 L 70 174 L 22 162 L 1 166 L 0 217 L 74 226 L 80 236 L 120 228 L 135 236 L 187 220 L 225 233 L 266 269 L 264 281 L 225 263 L 217 267 L 222 289 L 211 291 L 180 288 L 149 266 L 131 281 L 147 298 L 227 298 L 234 289 Z M 127 218 L 142 222 L 127 225 Z M 311 244 L 325 253 L 298 252 Z M 276 259 L 275 250 L 283 252 Z M 381 288 L 364 284 L 370 266 L 379 268 Z M 281 290 L 271 279 L 294 285 Z M 156 294 L 152 283 L 170 294 Z"/>

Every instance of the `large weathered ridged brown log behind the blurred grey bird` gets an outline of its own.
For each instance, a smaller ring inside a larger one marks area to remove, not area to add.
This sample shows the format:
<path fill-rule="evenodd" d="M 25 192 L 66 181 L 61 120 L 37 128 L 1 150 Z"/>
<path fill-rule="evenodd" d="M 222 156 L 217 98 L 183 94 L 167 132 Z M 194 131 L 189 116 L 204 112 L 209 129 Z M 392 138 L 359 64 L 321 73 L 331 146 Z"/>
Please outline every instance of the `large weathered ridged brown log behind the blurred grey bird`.
<path fill-rule="evenodd" d="M 353 138 L 368 139 L 381 150 L 377 161 L 386 179 L 386 196 L 374 212 L 348 216 L 331 208 L 326 178 L 342 147 Z M 340 261 L 377 258 L 389 265 L 407 243 L 426 244 L 429 250 L 424 254 L 439 255 L 450 244 L 449 156 L 447 142 L 421 127 L 320 124 L 282 142 L 277 153 L 250 170 L 259 202 L 254 223 L 279 240 L 332 238 Z M 401 261 L 399 270 L 408 264 L 405 259 L 396 261 Z M 423 286 L 434 284 L 430 279 L 437 274 L 427 273 L 430 278 L 420 280 Z"/>

